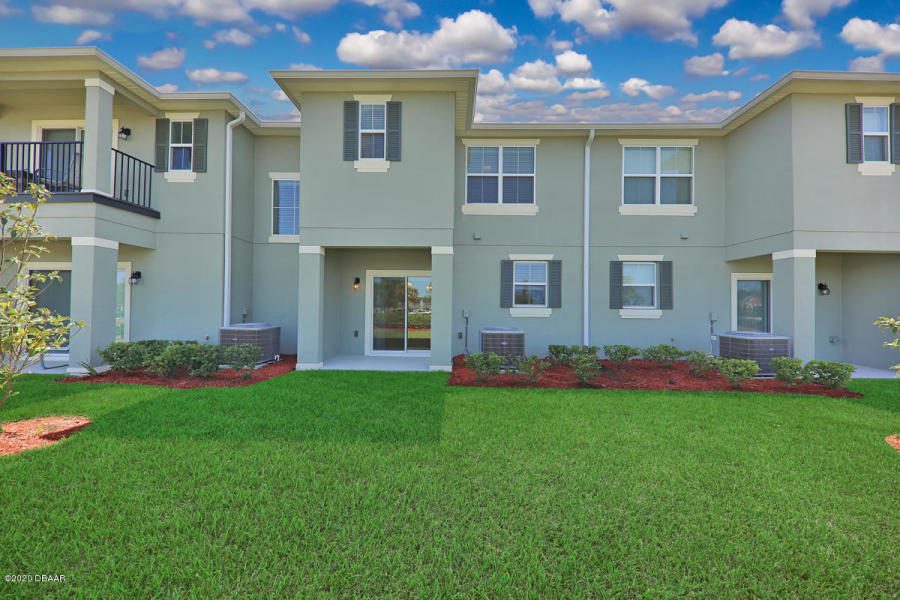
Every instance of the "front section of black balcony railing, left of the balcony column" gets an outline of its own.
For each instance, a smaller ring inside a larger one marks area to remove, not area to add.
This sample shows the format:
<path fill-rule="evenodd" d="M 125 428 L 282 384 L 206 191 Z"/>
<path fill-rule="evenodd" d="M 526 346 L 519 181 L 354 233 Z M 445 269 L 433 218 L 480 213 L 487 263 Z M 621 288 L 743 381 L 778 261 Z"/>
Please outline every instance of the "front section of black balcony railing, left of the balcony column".
<path fill-rule="evenodd" d="M 0 142 L 0 171 L 24 193 L 29 183 L 51 193 L 81 191 L 84 142 Z"/>

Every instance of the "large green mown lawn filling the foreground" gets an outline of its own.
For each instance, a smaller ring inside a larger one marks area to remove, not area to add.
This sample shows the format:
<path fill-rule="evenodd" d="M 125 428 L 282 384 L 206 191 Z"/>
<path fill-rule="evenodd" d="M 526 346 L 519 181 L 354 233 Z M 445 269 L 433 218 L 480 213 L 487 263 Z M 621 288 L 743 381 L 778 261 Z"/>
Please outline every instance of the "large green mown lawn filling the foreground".
<path fill-rule="evenodd" d="M 0 597 L 855 597 L 900 589 L 900 382 L 862 400 L 32 376 L 0 420 Z M 896 596 L 894 596 L 896 597 Z"/>

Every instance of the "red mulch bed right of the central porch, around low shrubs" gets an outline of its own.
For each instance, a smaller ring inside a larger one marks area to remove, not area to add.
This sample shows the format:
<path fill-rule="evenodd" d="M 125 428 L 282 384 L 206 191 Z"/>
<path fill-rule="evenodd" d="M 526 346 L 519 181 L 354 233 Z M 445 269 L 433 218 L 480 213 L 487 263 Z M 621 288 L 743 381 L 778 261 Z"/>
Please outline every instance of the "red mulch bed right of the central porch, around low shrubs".
<path fill-rule="evenodd" d="M 601 360 L 603 369 L 599 377 L 590 382 L 590 387 L 614 390 L 672 390 L 681 392 L 693 391 L 736 391 L 724 377 L 711 371 L 702 377 L 691 375 L 690 366 L 677 362 L 669 368 L 646 360 L 631 360 L 616 366 L 608 360 Z M 450 385 L 466 385 L 479 387 L 511 387 L 511 388 L 551 388 L 577 389 L 578 377 L 569 367 L 554 365 L 544 371 L 537 383 L 527 377 L 515 374 L 501 374 L 487 381 L 477 381 L 475 373 L 465 364 L 465 356 L 453 357 L 453 373 Z M 760 392 L 766 394 L 816 394 L 832 398 L 861 398 L 862 394 L 844 388 L 830 388 L 816 383 L 803 383 L 788 386 L 775 379 L 754 379 L 742 383 L 737 391 Z"/>

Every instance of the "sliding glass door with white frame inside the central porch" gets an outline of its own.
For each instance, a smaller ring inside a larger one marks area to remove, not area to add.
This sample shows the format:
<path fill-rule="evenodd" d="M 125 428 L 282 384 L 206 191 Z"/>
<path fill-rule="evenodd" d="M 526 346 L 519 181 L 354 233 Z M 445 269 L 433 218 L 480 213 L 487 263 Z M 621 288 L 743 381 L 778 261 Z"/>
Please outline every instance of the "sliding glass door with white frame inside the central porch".
<path fill-rule="evenodd" d="M 431 351 L 431 276 L 371 278 L 372 352 Z"/>

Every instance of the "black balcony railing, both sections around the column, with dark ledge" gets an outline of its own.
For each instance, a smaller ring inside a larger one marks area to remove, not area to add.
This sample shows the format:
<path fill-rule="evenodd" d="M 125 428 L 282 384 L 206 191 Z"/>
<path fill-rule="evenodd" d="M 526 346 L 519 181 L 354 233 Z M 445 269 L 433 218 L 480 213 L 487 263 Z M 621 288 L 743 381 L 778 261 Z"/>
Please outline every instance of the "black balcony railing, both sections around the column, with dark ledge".
<path fill-rule="evenodd" d="M 84 142 L 0 142 L 0 172 L 12 177 L 16 191 L 43 185 L 50 202 L 96 202 L 159 218 L 152 206 L 153 165 L 112 148 L 111 194 L 82 185 Z"/>

